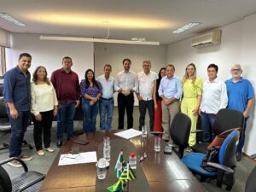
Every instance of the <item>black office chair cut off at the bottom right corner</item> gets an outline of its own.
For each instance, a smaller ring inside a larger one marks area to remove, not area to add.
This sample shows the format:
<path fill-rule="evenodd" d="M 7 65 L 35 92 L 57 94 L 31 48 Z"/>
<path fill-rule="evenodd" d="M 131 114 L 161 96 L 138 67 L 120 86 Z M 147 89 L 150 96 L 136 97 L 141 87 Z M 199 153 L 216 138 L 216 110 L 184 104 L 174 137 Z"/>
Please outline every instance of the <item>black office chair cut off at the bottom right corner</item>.
<path fill-rule="evenodd" d="M 226 190 L 218 188 L 211 183 L 202 183 L 205 189 L 208 192 L 225 192 Z M 247 183 L 245 186 L 245 192 L 256 192 L 256 166 L 254 167 L 253 171 L 247 177 Z"/>

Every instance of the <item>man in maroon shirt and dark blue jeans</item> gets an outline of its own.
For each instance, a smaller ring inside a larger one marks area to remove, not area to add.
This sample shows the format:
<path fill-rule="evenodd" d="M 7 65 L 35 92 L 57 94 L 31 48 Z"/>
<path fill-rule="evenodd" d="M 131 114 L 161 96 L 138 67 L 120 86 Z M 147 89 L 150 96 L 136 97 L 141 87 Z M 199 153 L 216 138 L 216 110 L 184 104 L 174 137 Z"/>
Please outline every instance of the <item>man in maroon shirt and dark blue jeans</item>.
<path fill-rule="evenodd" d="M 62 145 L 65 128 L 67 128 L 67 140 L 73 137 L 73 117 L 80 102 L 79 76 L 71 70 L 72 65 L 72 59 L 65 56 L 62 59 L 62 68 L 52 73 L 50 78 L 59 102 L 57 115 L 58 148 Z"/>

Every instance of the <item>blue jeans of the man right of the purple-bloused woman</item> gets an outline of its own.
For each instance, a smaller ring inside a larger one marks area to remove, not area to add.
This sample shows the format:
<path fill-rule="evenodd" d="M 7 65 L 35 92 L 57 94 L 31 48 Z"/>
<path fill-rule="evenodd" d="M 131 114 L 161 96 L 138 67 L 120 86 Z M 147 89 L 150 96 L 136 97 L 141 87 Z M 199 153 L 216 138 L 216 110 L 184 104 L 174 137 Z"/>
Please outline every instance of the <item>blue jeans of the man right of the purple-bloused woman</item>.
<path fill-rule="evenodd" d="M 113 117 L 113 98 L 100 100 L 101 130 L 111 130 Z M 106 120 L 107 116 L 107 120 Z"/>

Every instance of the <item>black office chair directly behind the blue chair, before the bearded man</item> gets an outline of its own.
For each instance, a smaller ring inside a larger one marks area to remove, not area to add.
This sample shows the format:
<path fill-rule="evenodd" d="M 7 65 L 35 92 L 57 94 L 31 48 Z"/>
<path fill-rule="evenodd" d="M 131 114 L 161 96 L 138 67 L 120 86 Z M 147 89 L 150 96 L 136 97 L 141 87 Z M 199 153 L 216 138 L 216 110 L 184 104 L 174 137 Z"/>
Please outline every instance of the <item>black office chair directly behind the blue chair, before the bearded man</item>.
<path fill-rule="evenodd" d="M 243 127 L 244 117 L 239 111 L 223 108 L 220 109 L 216 115 L 216 119 L 213 125 L 213 133 L 215 136 L 220 133 L 230 130 L 232 128 Z M 197 134 L 198 132 L 203 132 L 202 130 L 196 130 L 192 134 Z M 196 143 L 192 146 L 194 152 L 207 154 L 207 146 L 210 143 Z"/>

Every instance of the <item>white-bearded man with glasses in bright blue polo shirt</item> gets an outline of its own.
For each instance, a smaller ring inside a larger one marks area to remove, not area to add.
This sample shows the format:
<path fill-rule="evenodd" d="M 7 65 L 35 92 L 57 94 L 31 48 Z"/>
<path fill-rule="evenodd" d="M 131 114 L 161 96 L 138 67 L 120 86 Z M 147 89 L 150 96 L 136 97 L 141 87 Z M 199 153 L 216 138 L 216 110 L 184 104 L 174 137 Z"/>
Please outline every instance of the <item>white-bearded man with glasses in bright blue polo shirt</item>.
<path fill-rule="evenodd" d="M 232 79 L 226 80 L 229 103 L 227 108 L 236 109 L 243 113 L 245 118 L 243 129 L 240 132 L 239 143 L 236 149 L 236 160 L 241 160 L 241 149 L 245 142 L 245 131 L 247 126 L 247 119 L 249 118 L 250 109 L 254 103 L 253 86 L 247 79 L 241 77 L 241 66 L 234 65 L 230 73 Z"/>

